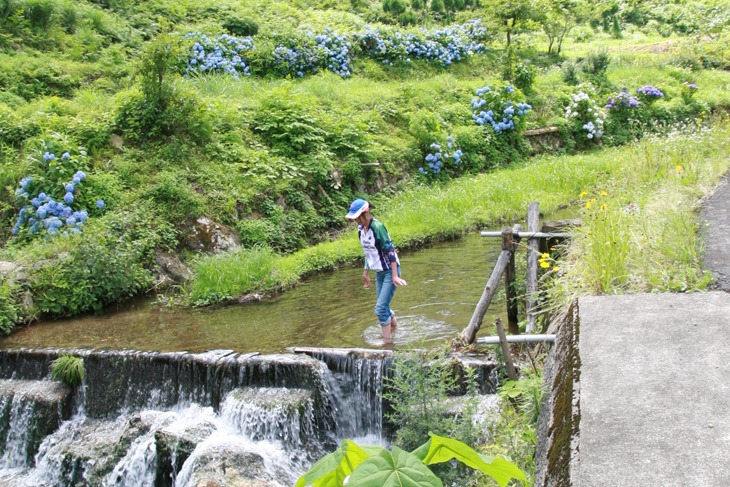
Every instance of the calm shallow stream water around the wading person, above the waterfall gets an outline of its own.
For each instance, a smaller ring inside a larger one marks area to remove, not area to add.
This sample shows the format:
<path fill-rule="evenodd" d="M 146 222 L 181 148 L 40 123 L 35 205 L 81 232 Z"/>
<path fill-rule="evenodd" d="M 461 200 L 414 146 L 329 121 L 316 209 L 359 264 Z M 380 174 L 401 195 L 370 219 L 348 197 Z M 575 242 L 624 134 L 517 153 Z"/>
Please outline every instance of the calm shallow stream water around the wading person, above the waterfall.
<path fill-rule="evenodd" d="M 461 331 L 500 251 L 498 238 L 473 234 L 402 253 L 408 285 L 397 289 L 392 303 L 400 323 L 394 346 L 450 339 Z M 353 265 L 250 304 L 171 309 L 152 299 L 136 300 L 98 315 L 35 323 L 0 339 L 0 348 L 272 353 L 293 346 L 382 347 L 374 287 L 364 289 L 362 268 Z M 497 316 L 506 319 L 502 290 L 484 318 L 482 334 Z"/>

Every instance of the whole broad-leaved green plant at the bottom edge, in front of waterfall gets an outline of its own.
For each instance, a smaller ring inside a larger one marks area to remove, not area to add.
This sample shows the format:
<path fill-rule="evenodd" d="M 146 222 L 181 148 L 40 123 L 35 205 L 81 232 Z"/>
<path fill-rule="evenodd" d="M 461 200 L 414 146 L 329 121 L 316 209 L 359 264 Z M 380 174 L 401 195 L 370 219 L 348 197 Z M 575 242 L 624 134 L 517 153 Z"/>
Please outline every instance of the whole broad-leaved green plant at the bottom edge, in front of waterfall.
<path fill-rule="evenodd" d="M 451 438 L 429 434 L 426 443 L 412 453 L 397 446 L 360 447 L 352 440 L 321 458 L 297 481 L 296 487 L 441 487 L 441 480 L 427 465 L 459 460 L 492 477 L 500 487 L 511 479 L 527 480 L 513 463 L 481 455 Z"/>

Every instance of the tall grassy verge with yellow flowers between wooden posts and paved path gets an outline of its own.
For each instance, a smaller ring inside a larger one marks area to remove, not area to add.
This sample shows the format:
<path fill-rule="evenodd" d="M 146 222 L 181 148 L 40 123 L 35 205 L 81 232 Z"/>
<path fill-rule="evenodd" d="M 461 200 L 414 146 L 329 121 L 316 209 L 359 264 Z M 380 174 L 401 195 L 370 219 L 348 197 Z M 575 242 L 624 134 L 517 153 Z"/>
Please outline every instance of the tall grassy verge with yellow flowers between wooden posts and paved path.
<path fill-rule="evenodd" d="M 583 225 L 549 281 L 552 305 L 595 293 L 692 291 L 703 271 L 699 201 L 730 168 L 725 124 L 647 139 L 617 154 L 604 193 L 581 200 Z"/>

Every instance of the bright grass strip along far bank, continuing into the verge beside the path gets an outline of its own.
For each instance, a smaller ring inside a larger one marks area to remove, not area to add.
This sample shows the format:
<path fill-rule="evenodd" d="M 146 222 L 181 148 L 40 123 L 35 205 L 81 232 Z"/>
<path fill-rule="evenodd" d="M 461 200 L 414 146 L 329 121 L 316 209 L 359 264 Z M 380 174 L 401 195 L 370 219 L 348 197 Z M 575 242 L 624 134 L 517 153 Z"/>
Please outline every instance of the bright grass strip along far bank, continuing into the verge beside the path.
<path fill-rule="evenodd" d="M 546 213 L 580 204 L 584 226 L 562 271 L 558 287 L 567 290 L 564 295 L 701 287 L 707 279 L 698 265 L 693 209 L 730 167 L 728 135 L 725 124 L 590 154 L 533 159 L 444 186 L 415 187 L 378 201 L 375 215 L 403 249 L 521 221 L 530 201 L 540 202 Z M 305 274 L 354 261 L 360 255 L 354 233 L 286 256 L 255 249 L 205 257 L 188 299 L 210 304 L 283 289 Z"/>

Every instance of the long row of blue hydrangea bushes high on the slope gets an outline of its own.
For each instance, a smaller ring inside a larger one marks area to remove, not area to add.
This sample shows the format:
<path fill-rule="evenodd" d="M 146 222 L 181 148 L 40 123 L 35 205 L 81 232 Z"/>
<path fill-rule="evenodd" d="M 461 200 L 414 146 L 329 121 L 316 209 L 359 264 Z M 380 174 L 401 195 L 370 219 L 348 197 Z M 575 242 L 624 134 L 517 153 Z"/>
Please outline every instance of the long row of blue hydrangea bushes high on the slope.
<path fill-rule="evenodd" d="M 485 52 L 489 40 L 487 29 L 479 20 L 454 24 L 442 29 L 419 29 L 404 32 L 396 29 L 373 29 L 340 34 L 329 28 L 321 33 L 309 30 L 288 34 L 236 37 L 224 34 L 210 38 L 200 32 L 185 36 L 190 47 L 184 71 L 196 74 L 251 75 L 254 57 L 264 62 L 260 74 L 303 77 L 329 70 L 343 77 L 352 75 L 355 55 L 376 59 L 383 64 L 423 60 L 449 66 Z"/>

